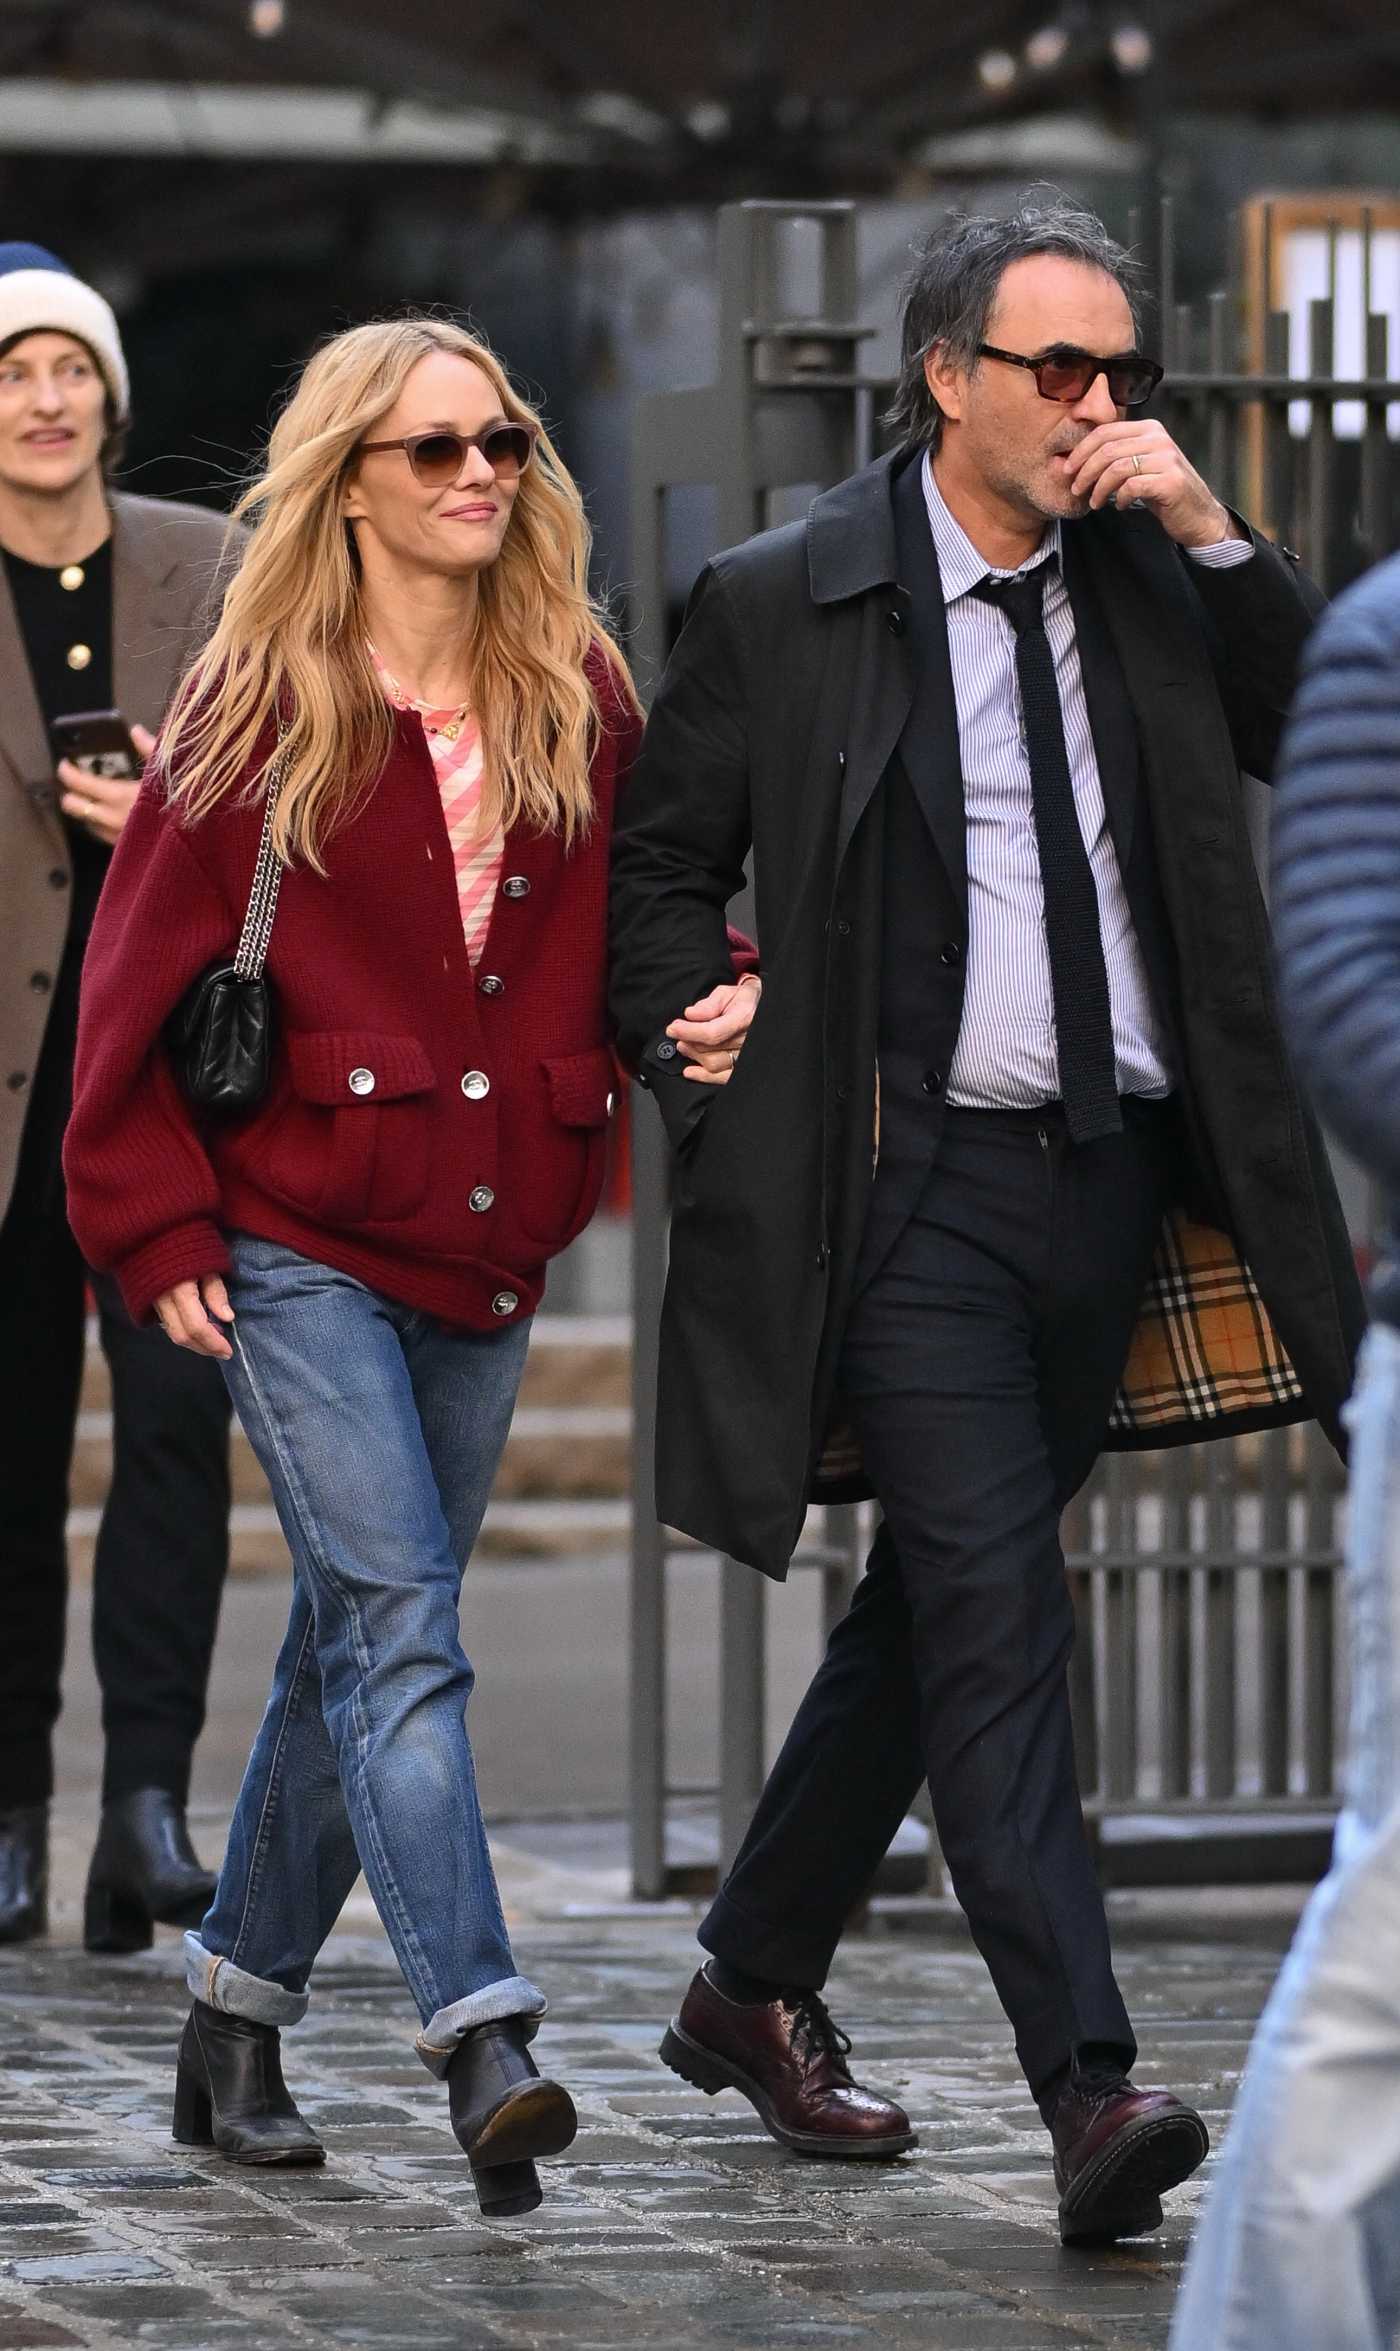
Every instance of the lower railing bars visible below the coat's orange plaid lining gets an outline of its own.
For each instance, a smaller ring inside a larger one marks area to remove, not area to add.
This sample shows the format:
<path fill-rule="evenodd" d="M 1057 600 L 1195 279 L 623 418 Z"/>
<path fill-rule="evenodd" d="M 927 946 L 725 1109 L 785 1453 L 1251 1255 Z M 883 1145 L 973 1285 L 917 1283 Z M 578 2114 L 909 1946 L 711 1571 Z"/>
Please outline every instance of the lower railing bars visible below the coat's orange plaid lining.
<path fill-rule="evenodd" d="M 1336 1803 L 1344 1472 L 1273 1429 L 1099 1462 L 1064 1519 L 1108 1876 L 1306 1876 Z"/>

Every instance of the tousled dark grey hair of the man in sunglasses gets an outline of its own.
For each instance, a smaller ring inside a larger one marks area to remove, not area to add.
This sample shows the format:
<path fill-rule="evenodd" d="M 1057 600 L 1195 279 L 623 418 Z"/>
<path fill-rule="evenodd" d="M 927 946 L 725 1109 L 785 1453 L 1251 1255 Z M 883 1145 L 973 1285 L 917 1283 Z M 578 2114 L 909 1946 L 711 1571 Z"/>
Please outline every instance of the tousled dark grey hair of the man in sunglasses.
<path fill-rule="evenodd" d="M 1104 221 L 1071 205 L 1054 188 L 1028 188 L 1005 216 L 948 214 L 922 247 L 904 289 L 899 383 L 885 421 L 904 447 L 939 447 L 944 414 L 925 381 L 929 350 L 960 367 L 976 367 L 976 346 L 1012 261 L 1056 254 L 1113 277 L 1132 310 L 1134 339 L 1144 324 L 1141 263 L 1108 235 Z"/>

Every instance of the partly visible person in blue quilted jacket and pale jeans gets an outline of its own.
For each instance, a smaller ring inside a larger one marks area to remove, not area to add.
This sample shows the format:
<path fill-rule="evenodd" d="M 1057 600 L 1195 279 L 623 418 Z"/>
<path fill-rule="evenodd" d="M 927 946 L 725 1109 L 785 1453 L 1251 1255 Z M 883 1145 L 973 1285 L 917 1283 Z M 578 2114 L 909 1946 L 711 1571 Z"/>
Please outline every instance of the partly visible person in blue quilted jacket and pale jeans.
<path fill-rule="evenodd" d="M 1351 1756 L 1172 2351 L 1391 2351 L 1400 2327 L 1400 557 L 1339 600 L 1304 661 L 1273 820 L 1285 1013 L 1386 1211 L 1346 1408 Z"/>

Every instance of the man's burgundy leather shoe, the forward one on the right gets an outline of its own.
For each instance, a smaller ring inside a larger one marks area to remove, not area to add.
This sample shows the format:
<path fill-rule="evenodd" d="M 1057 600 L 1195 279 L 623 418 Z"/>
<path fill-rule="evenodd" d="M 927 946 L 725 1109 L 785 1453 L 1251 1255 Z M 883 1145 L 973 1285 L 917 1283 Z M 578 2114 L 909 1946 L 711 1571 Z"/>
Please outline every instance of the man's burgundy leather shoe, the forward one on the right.
<path fill-rule="evenodd" d="M 1162 2191 L 1205 2163 L 1209 2132 L 1169 2090 L 1134 2090 L 1127 2074 L 1071 2076 L 1049 2118 L 1059 2233 L 1104 2245 L 1162 2224 Z"/>

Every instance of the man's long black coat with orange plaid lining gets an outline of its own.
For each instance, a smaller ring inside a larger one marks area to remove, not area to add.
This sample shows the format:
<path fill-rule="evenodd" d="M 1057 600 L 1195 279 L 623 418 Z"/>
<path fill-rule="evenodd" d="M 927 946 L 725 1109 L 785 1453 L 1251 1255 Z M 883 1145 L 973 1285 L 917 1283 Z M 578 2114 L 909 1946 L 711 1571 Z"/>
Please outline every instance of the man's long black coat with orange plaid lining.
<path fill-rule="evenodd" d="M 878 788 L 896 748 L 927 769 L 946 893 L 932 933 L 967 931 L 946 630 L 939 602 L 939 658 L 915 665 L 894 465 L 706 567 L 614 837 L 619 1044 L 678 1147 L 656 1507 L 776 1578 L 809 1500 L 868 1491 L 833 1422 L 875 1161 Z M 1066 576 L 1071 564 L 1106 616 L 1136 719 L 1139 783 L 1118 762 L 1106 797 L 1120 856 L 1120 828 L 1141 816 L 1125 792 L 1148 804 L 1198 1199 L 1214 1201 L 1165 1230 L 1106 1444 L 1313 1413 L 1336 1436 L 1362 1302 L 1280 1034 L 1240 792 L 1240 771 L 1271 773 L 1318 595 L 1266 538 L 1254 562 L 1205 571 L 1141 513 L 1066 524 Z M 751 849 L 762 1004 L 729 1084 L 694 1086 L 664 1030 L 732 976 L 725 907 Z M 951 957 L 948 1039 L 962 976 Z"/>

